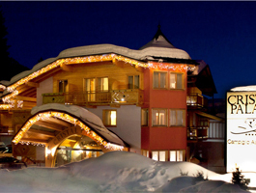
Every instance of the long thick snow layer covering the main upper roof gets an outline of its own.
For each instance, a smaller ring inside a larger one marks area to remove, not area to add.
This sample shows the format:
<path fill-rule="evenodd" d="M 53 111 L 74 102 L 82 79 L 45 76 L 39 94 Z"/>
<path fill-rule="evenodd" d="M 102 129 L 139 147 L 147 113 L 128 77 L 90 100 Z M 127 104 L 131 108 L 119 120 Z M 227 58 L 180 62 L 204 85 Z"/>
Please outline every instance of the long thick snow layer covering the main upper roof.
<path fill-rule="evenodd" d="M 81 56 L 90 56 L 97 54 L 108 54 L 115 53 L 135 60 L 144 60 L 147 57 L 165 57 L 165 58 L 177 58 L 177 59 L 188 59 L 190 56 L 182 49 L 177 48 L 166 48 L 166 47 L 147 47 L 143 50 L 133 50 L 127 47 L 122 47 L 113 44 L 96 44 L 96 45 L 86 45 L 78 46 L 70 49 L 63 50 L 56 58 L 49 58 L 41 63 L 34 66 L 33 69 L 23 71 L 16 74 L 11 81 L 9 82 L 10 86 L 16 81 L 28 76 L 29 74 L 46 67 L 47 65 L 57 61 L 62 58 L 71 58 L 71 57 L 81 57 Z"/>

